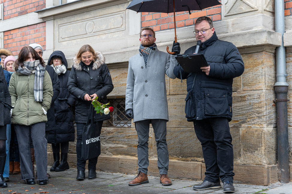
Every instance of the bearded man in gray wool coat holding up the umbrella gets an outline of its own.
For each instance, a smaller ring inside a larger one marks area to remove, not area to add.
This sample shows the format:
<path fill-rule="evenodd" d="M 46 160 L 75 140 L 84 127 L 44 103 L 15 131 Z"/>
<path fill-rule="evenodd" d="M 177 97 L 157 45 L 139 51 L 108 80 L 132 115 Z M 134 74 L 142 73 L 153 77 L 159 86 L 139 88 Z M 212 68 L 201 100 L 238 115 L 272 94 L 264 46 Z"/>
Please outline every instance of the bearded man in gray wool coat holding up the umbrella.
<path fill-rule="evenodd" d="M 155 32 L 152 28 L 142 28 L 140 32 L 139 54 L 129 59 L 126 87 L 126 116 L 134 118 L 138 135 L 138 167 L 139 173 L 130 186 L 148 183 L 147 171 L 149 124 L 152 124 L 158 155 L 160 183 L 171 185 L 167 177 L 168 150 L 166 143 L 166 122 L 168 106 L 166 96 L 165 74 L 174 79 L 173 69 L 176 60 L 157 49 Z M 179 43 L 173 44 L 172 51 L 179 54 Z"/>

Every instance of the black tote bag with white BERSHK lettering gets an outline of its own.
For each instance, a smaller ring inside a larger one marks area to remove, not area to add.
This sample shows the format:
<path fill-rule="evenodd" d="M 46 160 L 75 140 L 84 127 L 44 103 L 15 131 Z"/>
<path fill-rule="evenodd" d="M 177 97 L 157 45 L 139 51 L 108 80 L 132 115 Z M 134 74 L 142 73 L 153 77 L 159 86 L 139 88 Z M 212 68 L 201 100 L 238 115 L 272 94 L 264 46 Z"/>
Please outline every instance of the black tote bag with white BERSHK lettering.
<path fill-rule="evenodd" d="M 82 133 L 81 158 L 88 160 L 100 155 L 100 132 L 98 124 L 94 122 L 94 108 L 90 105 L 87 122 Z"/>

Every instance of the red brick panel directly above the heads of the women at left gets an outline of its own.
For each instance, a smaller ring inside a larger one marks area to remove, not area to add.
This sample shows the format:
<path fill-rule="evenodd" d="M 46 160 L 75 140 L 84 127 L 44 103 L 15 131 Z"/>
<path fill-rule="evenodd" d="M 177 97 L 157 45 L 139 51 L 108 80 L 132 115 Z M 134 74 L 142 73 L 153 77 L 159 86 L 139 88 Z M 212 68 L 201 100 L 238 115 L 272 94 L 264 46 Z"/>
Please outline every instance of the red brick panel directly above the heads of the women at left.
<path fill-rule="evenodd" d="M 4 32 L 4 48 L 13 55 L 31 43 L 38 43 L 46 50 L 46 22 Z"/>

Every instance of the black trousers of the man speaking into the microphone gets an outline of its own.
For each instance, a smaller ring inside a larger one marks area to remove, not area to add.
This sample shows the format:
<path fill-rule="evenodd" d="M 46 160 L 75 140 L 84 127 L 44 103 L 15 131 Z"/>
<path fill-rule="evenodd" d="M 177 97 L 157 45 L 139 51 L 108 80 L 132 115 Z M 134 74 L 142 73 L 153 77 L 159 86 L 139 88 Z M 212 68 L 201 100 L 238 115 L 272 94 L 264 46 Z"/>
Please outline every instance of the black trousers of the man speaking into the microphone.
<path fill-rule="evenodd" d="M 205 180 L 233 181 L 233 146 L 227 118 L 194 121 L 206 165 Z M 219 179 L 220 178 L 220 179 Z"/>

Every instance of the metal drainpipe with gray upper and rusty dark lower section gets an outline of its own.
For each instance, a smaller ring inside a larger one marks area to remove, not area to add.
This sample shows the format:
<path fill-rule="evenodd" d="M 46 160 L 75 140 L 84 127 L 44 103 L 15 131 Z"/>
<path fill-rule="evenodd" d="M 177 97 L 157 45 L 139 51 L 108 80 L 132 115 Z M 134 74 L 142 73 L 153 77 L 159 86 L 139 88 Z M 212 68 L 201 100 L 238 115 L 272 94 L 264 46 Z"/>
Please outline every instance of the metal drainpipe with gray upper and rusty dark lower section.
<path fill-rule="evenodd" d="M 288 116 L 286 82 L 286 56 L 283 42 L 285 33 L 284 0 L 275 0 L 275 30 L 282 35 L 282 44 L 276 47 L 276 110 L 277 110 L 277 144 L 278 144 L 278 179 L 281 183 L 289 182 L 289 150 L 288 150 Z"/>

